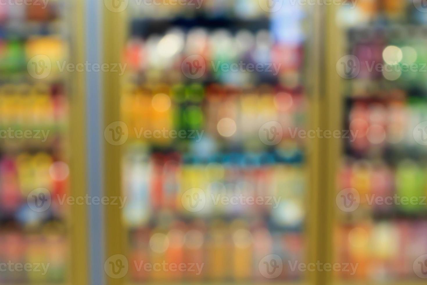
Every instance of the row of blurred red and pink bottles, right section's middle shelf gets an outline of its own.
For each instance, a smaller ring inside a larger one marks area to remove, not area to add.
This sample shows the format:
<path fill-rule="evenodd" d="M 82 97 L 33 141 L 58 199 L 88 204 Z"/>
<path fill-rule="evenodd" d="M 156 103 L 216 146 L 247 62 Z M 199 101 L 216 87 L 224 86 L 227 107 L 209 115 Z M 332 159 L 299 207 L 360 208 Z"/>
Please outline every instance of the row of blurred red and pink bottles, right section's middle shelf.
<path fill-rule="evenodd" d="M 427 108 L 425 101 L 360 100 L 354 101 L 348 114 L 348 141 L 354 153 L 396 155 L 405 150 L 424 153 L 427 145 Z"/>

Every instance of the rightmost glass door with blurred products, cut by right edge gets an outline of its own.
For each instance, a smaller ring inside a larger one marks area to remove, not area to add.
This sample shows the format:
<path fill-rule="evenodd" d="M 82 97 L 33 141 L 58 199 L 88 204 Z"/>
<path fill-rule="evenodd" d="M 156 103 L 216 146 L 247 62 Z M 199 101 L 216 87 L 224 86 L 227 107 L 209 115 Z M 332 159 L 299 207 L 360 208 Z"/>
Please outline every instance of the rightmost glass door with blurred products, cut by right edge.
<path fill-rule="evenodd" d="M 423 1 L 340 7 L 343 129 L 336 259 L 339 283 L 427 278 L 426 28 Z M 338 56 L 338 57 L 340 57 Z"/>

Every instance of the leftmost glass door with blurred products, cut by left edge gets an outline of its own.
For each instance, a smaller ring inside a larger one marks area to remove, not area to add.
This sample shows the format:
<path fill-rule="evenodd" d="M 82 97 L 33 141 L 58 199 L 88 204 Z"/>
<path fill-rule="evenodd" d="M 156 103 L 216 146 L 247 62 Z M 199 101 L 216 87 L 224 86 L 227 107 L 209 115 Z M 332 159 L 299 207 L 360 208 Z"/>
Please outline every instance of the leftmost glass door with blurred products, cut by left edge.
<path fill-rule="evenodd" d="M 67 282 L 70 5 L 0 5 L 1 284 Z"/>

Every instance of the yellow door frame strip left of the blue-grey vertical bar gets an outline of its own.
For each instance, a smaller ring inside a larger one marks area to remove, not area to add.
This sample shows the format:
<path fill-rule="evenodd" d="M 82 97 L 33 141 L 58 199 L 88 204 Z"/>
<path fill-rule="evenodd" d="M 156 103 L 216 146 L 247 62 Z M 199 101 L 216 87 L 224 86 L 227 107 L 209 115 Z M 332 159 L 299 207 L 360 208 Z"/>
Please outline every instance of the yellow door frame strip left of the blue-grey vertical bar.
<path fill-rule="evenodd" d="M 85 59 L 85 5 L 84 0 L 70 3 L 71 58 L 72 62 Z M 86 177 L 86 116 L 85 73 L 73 72 L 69 81 L 70 100 L 70 196 L 84 196 Z M 88 264 L 88 209 L 85 205 L 70 207 L 70 259 L 68 270 L 70 284 L 89 284 Z"/>

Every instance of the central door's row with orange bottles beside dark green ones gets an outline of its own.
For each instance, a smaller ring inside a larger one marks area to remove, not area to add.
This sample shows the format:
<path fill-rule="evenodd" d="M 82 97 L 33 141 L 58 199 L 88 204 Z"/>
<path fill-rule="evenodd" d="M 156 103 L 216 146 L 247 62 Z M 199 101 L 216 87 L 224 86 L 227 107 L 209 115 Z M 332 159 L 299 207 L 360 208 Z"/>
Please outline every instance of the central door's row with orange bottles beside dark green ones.
<path fill-rule="evenodd" d="M 183 137 L 195 142 L 201 156 L 233 145 L 247 150 L 279 145 L 298 152 L 304 142 L 295 130 L 304 125 L 305 104 L 298 91 L 272 85 L 131 86 L 123 96 L 122 112 L 129 138 L 170 146 L 185 132 Z"/>

